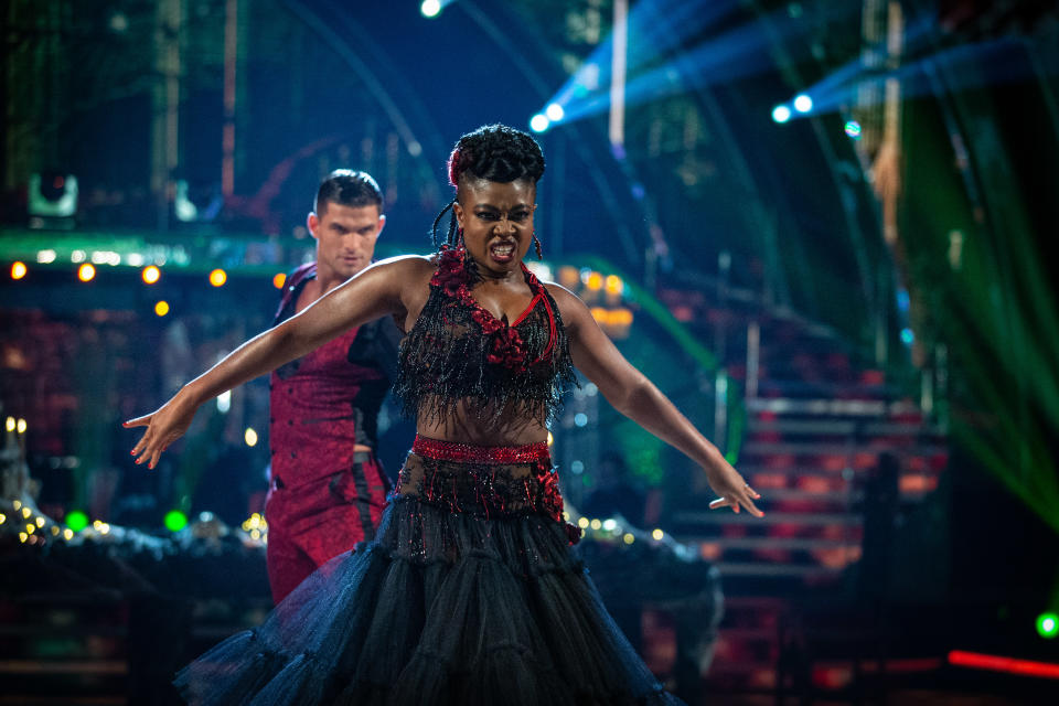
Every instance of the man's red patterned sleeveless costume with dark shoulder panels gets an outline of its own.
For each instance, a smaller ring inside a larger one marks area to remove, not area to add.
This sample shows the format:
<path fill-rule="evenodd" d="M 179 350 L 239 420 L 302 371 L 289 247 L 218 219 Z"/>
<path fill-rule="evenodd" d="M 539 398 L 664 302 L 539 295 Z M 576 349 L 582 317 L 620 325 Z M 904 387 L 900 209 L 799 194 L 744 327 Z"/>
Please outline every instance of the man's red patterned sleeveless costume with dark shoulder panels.
<path fill-rule="evenodd" d="M 275 323 L 293 315 L 315 264 L 287 280 Z M 375 457 L 378 409 L 396 371 L 391 320 L 352 329 L 272 373 L 268 578 L 279 603 L 333 556 L 375 536 L 391 482 Z"/>

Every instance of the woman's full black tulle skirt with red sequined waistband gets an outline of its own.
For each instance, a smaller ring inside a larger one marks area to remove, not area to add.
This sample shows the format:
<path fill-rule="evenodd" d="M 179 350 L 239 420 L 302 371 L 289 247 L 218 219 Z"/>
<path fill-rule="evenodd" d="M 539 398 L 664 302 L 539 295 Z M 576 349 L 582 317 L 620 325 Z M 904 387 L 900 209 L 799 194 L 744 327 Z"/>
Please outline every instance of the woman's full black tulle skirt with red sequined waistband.
<path fill-rule="evenodd" d="M 376 538 L 181 670 L 191 704 L 681 703 L 570 550 L 547 447 L 413 451 Z"/>

